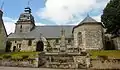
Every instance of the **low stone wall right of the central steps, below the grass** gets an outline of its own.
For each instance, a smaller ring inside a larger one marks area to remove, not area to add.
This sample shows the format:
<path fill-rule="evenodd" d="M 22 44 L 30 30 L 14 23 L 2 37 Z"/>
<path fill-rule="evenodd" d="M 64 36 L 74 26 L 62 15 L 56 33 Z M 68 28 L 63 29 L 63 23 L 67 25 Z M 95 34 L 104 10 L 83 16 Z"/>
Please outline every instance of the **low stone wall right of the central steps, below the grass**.
<path fill-rule="evenodd" d="M 120 59 L 92 59 L 91 69 L 120 69 Z"/>

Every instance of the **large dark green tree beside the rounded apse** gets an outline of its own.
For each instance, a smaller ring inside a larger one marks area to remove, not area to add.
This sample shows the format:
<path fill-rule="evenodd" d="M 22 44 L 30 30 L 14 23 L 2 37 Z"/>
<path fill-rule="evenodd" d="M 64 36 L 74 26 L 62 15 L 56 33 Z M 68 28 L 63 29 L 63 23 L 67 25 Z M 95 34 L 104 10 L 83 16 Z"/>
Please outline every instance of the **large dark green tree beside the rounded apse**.
<path fill-rule="evenodd" d="M 110 0 L 103 10 L 101 21 L 107 28 L 107 33 L 120 35 L 120 0 Z"/>

